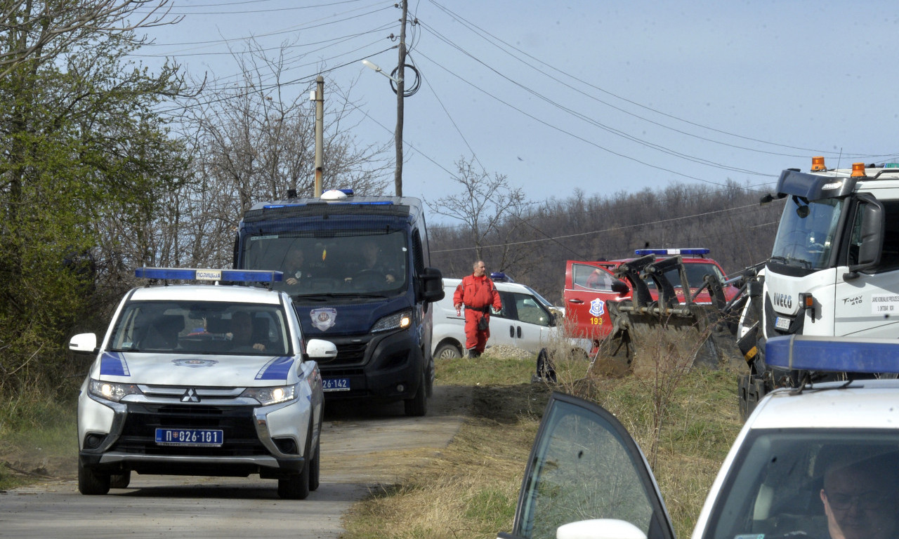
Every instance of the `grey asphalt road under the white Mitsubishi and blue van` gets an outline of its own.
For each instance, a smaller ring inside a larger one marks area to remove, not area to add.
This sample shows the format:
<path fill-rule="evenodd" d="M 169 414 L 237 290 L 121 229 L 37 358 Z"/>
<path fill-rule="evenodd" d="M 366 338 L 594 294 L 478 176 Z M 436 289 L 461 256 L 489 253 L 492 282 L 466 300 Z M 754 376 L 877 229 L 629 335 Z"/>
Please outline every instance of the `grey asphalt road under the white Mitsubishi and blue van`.
<path fill-rule="evenodd" d="M 258 476 L 132 474 L 106 496 L 83 496 L 67 478 L 0 493 L 0 537 L 337 538 L 352 504 L 439 455 L 470 405 L 470 390 L 448 386 L 434 388 L 423 418 L 405 417 L 402 403 L 326 404 L 321 485 L 304 500 L 280 499 L 277 482 Z"/>

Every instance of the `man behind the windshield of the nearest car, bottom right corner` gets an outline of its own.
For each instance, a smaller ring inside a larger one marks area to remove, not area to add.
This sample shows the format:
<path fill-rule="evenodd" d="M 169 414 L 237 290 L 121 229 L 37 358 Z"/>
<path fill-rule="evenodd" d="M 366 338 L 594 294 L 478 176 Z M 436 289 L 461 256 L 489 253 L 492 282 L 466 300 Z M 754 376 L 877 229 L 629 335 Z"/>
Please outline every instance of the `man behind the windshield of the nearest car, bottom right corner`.
<path fill-rule="evenodd" d="M 899 497 L 895 459 L 832 464 L 821 501 L 831 539 L 895 539 Z"/>

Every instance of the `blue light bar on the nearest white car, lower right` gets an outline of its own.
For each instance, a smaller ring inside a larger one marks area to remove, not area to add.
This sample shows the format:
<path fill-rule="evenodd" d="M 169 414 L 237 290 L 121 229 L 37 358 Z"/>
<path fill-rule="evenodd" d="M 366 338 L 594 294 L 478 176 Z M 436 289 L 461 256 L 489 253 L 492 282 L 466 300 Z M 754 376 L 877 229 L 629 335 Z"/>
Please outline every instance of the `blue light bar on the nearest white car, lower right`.
<path fill-rule="evenodd" d="M 899 340 L 783 335 L 765 343 L 773 367 L 836 373 L 899 373 Z"/>

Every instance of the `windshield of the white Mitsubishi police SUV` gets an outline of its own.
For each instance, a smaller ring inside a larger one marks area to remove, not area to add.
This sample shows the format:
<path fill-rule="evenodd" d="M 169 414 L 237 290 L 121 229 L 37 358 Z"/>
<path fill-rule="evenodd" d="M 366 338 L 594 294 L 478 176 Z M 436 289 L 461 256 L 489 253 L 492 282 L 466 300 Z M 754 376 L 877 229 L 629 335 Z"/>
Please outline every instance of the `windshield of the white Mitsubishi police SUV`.
<path fill-rule="evenodd" d="M 280 305 L 131 301 L 115 323 L 111 351 L 289 356 Z"/>

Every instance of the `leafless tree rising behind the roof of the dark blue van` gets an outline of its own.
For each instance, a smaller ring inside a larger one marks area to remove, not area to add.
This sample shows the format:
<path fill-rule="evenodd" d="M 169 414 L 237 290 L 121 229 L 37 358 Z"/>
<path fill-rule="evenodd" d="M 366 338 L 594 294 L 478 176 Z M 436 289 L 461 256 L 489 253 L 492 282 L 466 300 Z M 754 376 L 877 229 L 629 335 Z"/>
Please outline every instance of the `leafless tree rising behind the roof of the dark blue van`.
<path fill-rule="evenodd" d="M 285 82 L 287 45 L 270 57 L 254 40 L 233 57 L 236 84 L 208 90 L 188 104 L 193 156 L 191 181 L 178 193 L 181 220 L 173 232 L 184 264 L 225 267 L 232 261 L 236 225 L 262 200 L 281 200 L 288 190 L 314 194 L 315 111 L 305 89 Z M 328 93 L 325 102 L 325 189 L 381 194 L 389 185 L 389 145 L 357 146 L 349 94 Z"/>

